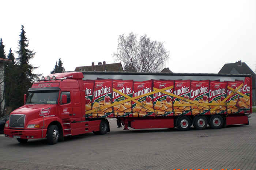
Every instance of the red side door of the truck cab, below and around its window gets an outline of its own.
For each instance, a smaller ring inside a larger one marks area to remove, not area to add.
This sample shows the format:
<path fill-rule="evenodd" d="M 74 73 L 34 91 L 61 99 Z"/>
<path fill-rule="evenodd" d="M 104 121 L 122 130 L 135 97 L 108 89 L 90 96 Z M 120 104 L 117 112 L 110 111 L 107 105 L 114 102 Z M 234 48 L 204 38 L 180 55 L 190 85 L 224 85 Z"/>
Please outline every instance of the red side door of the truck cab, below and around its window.
<path fill-rule="evenodd" d="M 67 95 L 67 103 L 62 104 L 62 95 Z M 71 96 L 69 91 L 63 91 L 60 93 L 60 105 L 59 105 L 59 116 L 62 119 L 69 119 L 72 118 L 72 103 L 71 103 Z"/>

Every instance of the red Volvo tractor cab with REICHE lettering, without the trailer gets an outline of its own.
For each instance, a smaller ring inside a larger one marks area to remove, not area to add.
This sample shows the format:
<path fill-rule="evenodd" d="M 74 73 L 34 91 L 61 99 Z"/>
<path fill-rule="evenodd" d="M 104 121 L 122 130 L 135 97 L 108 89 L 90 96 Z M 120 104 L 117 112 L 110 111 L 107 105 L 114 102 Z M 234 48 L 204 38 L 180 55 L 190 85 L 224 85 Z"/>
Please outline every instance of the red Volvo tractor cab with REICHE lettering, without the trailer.
<path fill-rule="evenodd" d="M 29 94 L 25 94 L 25 105 L 10 114 L 5 136 L 17 138 L 19 142 L 47 138 L 48 143 L 55 144 L 64 136 L 109 131 L 106 119 L 85 120 L 82 78 L 82 73 L 57 73 L 38 78 L 28 90 Z"/>

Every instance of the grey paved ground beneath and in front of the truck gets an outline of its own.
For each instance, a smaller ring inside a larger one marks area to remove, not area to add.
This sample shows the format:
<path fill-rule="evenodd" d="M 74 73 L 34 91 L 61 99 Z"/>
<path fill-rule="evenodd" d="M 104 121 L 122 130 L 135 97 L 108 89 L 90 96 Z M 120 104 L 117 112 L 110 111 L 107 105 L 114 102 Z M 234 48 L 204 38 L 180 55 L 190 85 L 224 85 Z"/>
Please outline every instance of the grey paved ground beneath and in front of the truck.
<path fill-rule="evenodd" d="M 20 144 L 0 134 L 1 170 L 255 170 L 256 113 L 250 125 L 180 132 L 130 130 L 72 136 L 55 145 L 45 139 Z"/>

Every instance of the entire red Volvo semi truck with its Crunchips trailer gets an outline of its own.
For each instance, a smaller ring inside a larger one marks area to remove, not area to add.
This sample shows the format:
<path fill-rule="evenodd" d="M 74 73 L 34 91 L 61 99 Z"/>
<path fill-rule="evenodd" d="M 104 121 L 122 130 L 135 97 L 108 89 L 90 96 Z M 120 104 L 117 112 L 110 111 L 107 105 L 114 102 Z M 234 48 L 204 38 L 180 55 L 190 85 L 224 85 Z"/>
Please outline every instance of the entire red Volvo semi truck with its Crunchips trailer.
<path fill-rule="evenodd" d="M 249 74 L 67 72 L 33 83 L 24 105 L 10 114 L 4 134 L 18 142 L 47 138 L 49 144 L 118 127 L 204 130 L 249 124 Z"/>

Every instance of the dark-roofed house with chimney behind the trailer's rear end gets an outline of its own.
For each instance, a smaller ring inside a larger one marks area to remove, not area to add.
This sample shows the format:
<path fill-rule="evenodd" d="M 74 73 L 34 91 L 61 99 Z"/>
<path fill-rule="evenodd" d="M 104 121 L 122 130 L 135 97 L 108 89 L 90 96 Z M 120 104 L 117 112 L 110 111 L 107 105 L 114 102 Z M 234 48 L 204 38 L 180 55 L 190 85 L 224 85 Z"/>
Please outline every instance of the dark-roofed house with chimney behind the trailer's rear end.
<path fill-rule="evenodd" d="M 235 63 L 225 64 L 218 74 L 251 74 L 252 75 L 252 100 L 256 100 L 256 74 L 241 60 Z"/>

